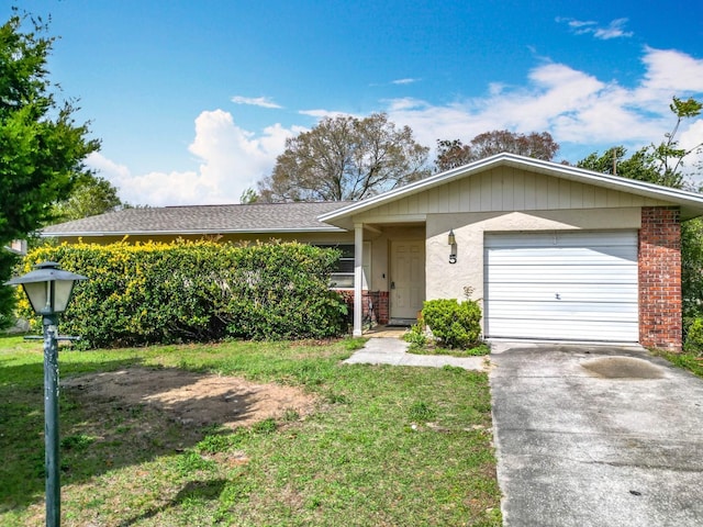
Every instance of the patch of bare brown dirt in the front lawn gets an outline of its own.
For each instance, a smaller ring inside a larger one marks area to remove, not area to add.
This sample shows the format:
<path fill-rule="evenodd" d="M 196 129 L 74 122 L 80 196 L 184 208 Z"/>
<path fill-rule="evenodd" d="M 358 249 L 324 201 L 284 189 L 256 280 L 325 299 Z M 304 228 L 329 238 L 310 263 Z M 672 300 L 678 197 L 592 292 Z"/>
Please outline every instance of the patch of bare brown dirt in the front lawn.
<path fill-rule="evenodd" d="M 294 386 L 257 384 L 236 377 L 179 369 L 129 368 L 66 379 L 62 388 L 78 399 L 146 405 L 183 425 L 249 426 L 287 411 L 301 417 L 315 399 Z"/>

